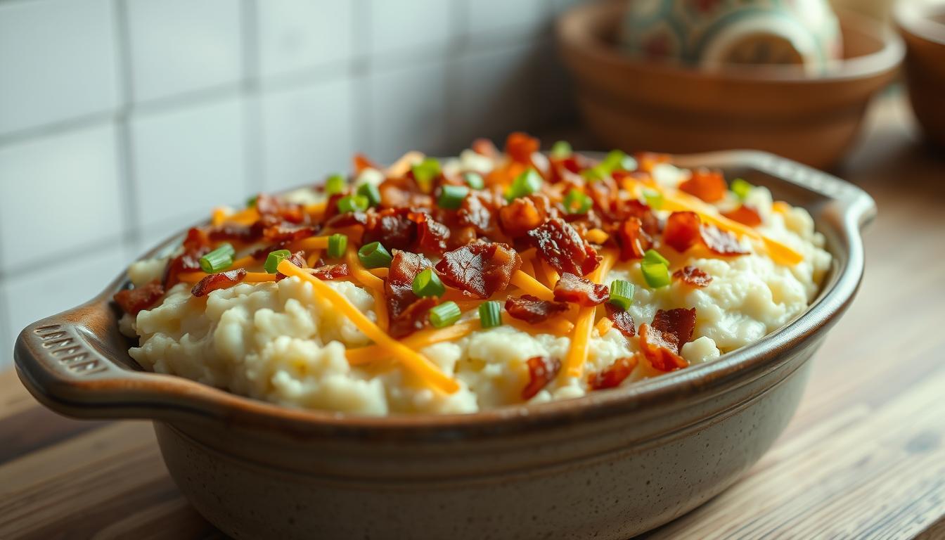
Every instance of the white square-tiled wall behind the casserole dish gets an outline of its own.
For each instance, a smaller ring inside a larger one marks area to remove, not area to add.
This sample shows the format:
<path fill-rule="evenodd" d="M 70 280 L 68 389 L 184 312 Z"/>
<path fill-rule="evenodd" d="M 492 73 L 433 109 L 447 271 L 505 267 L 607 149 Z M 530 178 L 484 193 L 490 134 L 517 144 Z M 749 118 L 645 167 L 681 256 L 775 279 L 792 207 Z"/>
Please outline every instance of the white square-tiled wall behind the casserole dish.
<path fill-rule="evenodd" d="M 576 4 L 0 0 L 0 350 L 219 203 L 578 125 Z"/>

